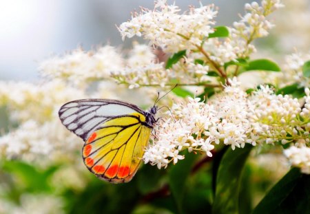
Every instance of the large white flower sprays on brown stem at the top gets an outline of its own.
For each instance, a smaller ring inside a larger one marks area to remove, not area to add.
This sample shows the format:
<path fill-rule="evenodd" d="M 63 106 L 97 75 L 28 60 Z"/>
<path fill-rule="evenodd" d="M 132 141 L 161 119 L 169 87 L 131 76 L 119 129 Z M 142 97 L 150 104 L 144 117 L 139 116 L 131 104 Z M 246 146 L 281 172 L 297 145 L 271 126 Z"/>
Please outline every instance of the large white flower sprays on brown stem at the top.
<path fill-rule="evenodd" d="M 154 10 L 142 8 L 130 21 L 122 23 L 118 30 L 125 37 L 143 36 L 166 54 L 186 50 L 186 54 L 172 67 L 166 69 L 164 63 L 152 60 L 147 65 L 125 65 L 122 71 L 113 72 L 118 83 L 130 88 L 143 85 L 161 87 L 179 83 L 180 85 L 203 85 L 218 83 L 218 78 L 207 76 L 209 71 L 226 78 L 225 63 L 247 58 L 255 51 L 251 41 L 267 36 L 273 26 L 267 16 L 281 8 L 279 0 L 264 0 L 262 6 L 254 2 L 246 5 L 248 11 L 242 20 L 229 28 L 225 38 L 209 36 L 218 30 L 214 28 L 217 10 L 213 5 L 199 8 L 190 7 L 180 14 L 180 9 L 169 6 L 167 0 L 157 1 Z"/>

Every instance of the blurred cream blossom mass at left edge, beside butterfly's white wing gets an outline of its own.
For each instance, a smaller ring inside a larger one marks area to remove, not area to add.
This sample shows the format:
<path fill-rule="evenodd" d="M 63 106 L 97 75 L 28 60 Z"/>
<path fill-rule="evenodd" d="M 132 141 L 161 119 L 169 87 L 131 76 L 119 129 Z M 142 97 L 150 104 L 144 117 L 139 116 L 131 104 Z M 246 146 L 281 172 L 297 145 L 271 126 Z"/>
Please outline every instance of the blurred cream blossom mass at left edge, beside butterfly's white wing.
<path fill-rule="evenodd" d="M 68 87 L 61 81 L 42 85 L 31 83 L 0 83 L 0 105 L 10 111 L 10 121 L 19 127 L 1 136 L 1 154 L 8 158 L 34 160 L 40 156 L 76 149 L 79 139 L 60 126 L 58 109 L 63 103 L 85 97 L 83 91 Z M 65 142 L 65 147 L 63 143 Z"/>

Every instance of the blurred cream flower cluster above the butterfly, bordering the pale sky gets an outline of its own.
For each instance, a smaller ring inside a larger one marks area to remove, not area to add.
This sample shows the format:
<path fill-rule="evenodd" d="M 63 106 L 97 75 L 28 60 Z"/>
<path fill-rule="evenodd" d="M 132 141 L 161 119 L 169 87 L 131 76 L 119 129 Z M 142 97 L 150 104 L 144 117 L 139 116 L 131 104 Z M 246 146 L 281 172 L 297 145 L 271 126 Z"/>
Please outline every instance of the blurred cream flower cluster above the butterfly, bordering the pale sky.
<path fill-rule="evenodd" d="M 90 52 L 79 48 L 64 56 L 43 61 L 39 67 L 43 76 L 65 80 L 79 87 L 110 78 L 111 72 L 120 69 L 123 69 L 123 58 L 110 45 Z"/>

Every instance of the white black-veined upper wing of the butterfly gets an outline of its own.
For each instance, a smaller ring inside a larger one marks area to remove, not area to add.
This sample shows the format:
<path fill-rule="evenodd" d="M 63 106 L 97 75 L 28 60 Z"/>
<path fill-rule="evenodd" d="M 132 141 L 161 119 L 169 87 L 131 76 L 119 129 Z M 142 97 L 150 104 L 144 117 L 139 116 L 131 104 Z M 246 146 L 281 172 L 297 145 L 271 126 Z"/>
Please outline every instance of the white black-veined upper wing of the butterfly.
<path fill-rule="evenodd" d="M 74 100 L 61 107 L 59 118 L 67 129 L 85 141 L 106 120 L 137 111 L 143 113 L 136 105 L 118 100 Z"/>

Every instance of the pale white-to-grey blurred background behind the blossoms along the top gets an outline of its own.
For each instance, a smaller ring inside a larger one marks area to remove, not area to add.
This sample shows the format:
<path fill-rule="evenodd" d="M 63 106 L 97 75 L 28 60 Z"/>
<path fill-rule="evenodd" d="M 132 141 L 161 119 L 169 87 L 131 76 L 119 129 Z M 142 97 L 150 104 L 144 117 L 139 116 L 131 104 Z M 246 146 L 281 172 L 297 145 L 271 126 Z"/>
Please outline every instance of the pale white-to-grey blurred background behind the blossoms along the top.
<path fill-rule="evenodd" d="M 237 21 L 245 2 L 251 2 L 201 1 L 220 8 L 217 25 Z M 186 10 L 198 6 L 198 0 L 176 0 L 176 5 Z M 115 25 L 130 19 L 139 6 L 154 8 L 154 1 L 0 0 L 0 80 L 35 81 L 40 61 L 79 45 L 85 50 L 106 43 L 123 46 Z"/>

